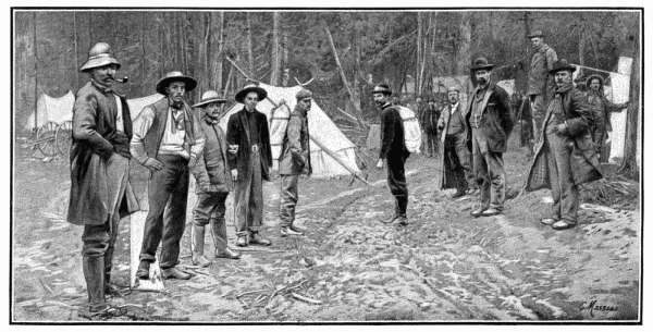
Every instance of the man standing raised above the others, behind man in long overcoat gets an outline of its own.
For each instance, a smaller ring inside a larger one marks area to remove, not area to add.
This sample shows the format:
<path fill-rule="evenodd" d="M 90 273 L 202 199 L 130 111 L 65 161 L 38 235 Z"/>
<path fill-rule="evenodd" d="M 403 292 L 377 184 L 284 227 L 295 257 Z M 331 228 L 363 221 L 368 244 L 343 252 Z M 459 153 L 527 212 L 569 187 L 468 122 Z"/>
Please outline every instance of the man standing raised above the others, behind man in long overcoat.
<path fill-rule="evenodd" d="M 542 131 L 546 104 L 553 97 L 555 88 L 553 75 L 549 74 L 549 71 L 553 69 L 553 63 L 557 61 L 557 54 L 549 45 L 544 44 L 544 34 L 541 30 L 533 32 L 528 35 L 528 38 L 531 40 L 535 52 L 531 59 L 526 95 L 531 102 L 534 137 L 538 138 Z"/>

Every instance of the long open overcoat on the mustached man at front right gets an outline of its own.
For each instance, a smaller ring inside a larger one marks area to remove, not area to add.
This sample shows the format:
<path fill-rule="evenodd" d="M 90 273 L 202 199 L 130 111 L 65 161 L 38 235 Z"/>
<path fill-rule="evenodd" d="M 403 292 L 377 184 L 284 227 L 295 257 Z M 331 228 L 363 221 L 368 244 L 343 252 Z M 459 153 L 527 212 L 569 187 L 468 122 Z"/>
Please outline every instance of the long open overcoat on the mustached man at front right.
<path fill-rule="evenodd" d="M 571 151 L 571 176 L 576 185 L 600 180 L 603 177 L 599 158 L 594 152 L 594 145 L 590 127 L 592 126 L 592 110 L 583 96 L 578 89 L 567 86 L 562 90 L 557 90 L 563 98 L 563 110 L 567 123 L 567 132 L 574 140 Z M 549 109 L 543 123 L 547 123 L 552 116 L 552 111 Z M 550 170 L 547 167 L 547 158 L 550 150 L 543 148 L 546 139 L 545 131 L 541 131 L 538 146 L 535 147 L 535 158 L 531 163 L 528 179 L 526 182 L 526 190 L 532 192 L 542 188 L 551 188 Z"/>

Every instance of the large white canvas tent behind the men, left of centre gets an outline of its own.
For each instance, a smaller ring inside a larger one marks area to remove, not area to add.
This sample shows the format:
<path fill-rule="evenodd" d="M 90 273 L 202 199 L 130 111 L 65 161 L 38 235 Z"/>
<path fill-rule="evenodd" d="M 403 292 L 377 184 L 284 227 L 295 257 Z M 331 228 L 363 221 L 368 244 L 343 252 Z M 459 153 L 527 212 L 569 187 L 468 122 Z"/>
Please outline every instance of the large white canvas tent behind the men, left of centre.
<path fill-rule="evenodd" d="M 283 143 L 283 137 L 285 135 L 287 120 L 295 109 L 295 104 L 297 103 L 295 95 L 301 89 L 301 86 L 275 87 L 261 83 L 260 87 L 268 91 L 269 99 L 259 101 L 256 108 L 268 116 L 268 123 L 270 123 L 272 159 L 274 160 L 273 169 L 276 170 L 279 169 L 279 157 L 282 148 L 281 144 Z M 220 126 L 226 131 L 229 118 L 243 108 L 244 106 L 242 103 L 232 106 L 221 119 Z M 313 171 L 312 176 L 332 177 L 337 175 L 350 175 L 349 171 L 330 157 L 318 144 L 321 144 L 333 151 L 349 169 L 356 172 L 359 171 L 356 165 L 356 145 L 340 131 L 315 101 L 308 112 L 308 125 L 311 138 L 310 159 Z"/>

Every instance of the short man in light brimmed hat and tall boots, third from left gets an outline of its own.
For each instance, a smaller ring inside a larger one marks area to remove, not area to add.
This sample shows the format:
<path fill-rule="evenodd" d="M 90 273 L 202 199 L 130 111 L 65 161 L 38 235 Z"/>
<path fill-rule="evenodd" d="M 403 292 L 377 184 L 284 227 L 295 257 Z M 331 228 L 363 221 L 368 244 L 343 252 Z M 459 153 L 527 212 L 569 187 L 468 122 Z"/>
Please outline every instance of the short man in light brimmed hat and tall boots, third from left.
<path fill-rule="evenodd" d="M 211 261 L 204 256 L 205 229 L 211 224 L 211 236 L 215 246 L 217 258 L 239 259 L 241 254 L 227 246 L 226 196 L 233 184 L 229 164 L 226 163 L 226 137 L 218 124 L 224 114 L 226 99 L 217 91 L 206 91 L 201 100 L 193 108 L 201 109 L 199 124 L 205 135 L 205 147 L 193 168 L 197 181 L 195 193 L 197 205 L 193 210 L 193 231 L 190 235 L 192 261 L 195 266 L 208 267 Z"/>

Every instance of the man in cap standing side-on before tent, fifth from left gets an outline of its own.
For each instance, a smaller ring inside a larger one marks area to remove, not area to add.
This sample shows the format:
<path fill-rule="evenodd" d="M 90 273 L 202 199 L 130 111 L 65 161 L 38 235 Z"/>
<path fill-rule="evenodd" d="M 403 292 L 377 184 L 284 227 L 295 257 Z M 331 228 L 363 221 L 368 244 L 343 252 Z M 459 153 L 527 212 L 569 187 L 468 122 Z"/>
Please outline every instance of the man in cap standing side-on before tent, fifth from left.
<path fill-rule="evenodd" d="M 308 111 L 311 106 L 312 93 L 301 89 L 295 96 L 297 106 L 291 114 L 286 136 L 283 139 L 281 157 L 279 159 L 279 174 L 281 175 L 281 199 L 279 218 L 281 219 L 281 236 L 304 235 L 293 222 L 295 221 L 295 207 L 299 196 L 297 181 L 299 175 L 310 176 L 310 136 L 308 133 Z"/>

